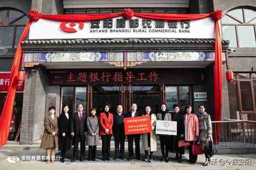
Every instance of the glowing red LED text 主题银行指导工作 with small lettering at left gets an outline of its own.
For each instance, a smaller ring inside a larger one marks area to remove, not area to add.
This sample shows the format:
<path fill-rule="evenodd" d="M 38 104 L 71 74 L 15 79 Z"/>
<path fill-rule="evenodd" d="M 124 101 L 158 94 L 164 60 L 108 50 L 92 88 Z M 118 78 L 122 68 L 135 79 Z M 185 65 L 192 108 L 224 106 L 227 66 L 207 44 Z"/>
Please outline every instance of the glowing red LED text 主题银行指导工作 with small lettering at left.
<path fill-rule="evenodd" d="M 58 84 L 79 83 L 131 83 L 160 81 L 157 71 L 50 71 L 49 82 Z"/>

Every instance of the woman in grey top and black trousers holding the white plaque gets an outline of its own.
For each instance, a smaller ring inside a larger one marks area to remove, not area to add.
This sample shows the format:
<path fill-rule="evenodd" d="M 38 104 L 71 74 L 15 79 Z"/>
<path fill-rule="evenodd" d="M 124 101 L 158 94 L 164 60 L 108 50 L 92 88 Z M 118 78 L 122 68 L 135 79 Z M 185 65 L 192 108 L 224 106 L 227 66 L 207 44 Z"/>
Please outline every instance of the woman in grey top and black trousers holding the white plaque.
<path fill-rule="evenodd" d="M 171 113 L 168 113 L 166 104 L 161 105 L 160 113 L 157 113 L 157 120 L 172 121 L 172 115 Z M 159 138 L 160 138 L 160 146 L 161 146 L 161 152 L 162 152 L 162 158 L 160 161 L 165 160 L 166 162 L 169 162 L 170 136 L 159 135 Z"/>

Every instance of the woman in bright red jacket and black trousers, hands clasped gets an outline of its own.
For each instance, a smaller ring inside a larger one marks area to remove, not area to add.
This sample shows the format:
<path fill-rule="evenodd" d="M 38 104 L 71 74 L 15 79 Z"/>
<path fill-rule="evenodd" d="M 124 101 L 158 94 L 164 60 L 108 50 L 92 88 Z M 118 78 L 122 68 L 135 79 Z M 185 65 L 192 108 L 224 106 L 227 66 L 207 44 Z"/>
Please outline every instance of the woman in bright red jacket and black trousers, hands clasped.
<path fill-rule="evenodd" d="M 109 113 L 111 105 L 106 103 L 104 106 L 104 112 L 99 114 L 99 134 L 102 138 L 102 160 L 110 160 L 110 141 L 113 134 L 113 114 Z"/>

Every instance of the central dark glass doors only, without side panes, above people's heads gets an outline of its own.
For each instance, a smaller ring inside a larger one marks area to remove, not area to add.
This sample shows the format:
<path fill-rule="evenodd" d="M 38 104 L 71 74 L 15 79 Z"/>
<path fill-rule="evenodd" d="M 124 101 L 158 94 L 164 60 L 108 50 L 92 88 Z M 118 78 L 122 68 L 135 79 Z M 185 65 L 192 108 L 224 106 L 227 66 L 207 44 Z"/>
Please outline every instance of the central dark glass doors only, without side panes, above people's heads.
<path fill-rule="evenodd" d="M 157 113 L 161 101 L 159 85 L 93 85 L 91 95 L 91 105 L 98 113 L 104 111 L 102 106 L 106 102 L 111 105 L 111 113 L 115 113 L 117 104 L 121 104 L 126 113 L 130 111 L 132 103 L 137 104 L 140 113 L 144 113 L 146 105 L 151 106 L 153 113 Z"/>

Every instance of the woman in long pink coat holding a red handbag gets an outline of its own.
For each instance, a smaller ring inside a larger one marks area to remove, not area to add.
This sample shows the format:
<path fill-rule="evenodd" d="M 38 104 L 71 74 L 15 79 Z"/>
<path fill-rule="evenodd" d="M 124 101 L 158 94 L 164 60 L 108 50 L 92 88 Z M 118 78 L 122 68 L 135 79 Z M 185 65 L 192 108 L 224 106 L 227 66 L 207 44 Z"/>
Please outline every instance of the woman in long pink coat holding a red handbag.
<path fill-rule="evenodd" d="M 197 143 L 199 136 L 198 117 L 191 113 L 192 106 L 187 105 L 185 107 L 184 124 L 185 124 L 185 141 L 190 143 L 189 145 L 189 163 L 195 164 L 197 161 L 197 155 L 192 155 L 192 145 Z"/>

